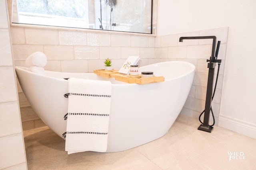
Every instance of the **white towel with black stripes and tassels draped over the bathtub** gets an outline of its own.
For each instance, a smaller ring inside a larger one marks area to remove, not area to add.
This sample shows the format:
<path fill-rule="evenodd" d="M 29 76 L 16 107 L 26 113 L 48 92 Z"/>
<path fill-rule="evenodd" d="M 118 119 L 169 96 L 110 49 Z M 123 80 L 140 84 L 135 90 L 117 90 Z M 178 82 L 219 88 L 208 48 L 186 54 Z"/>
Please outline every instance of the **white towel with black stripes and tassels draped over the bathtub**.
<path fill-rule="evenodd" d="M 68 80 L 66 146 L 68 154 L 106 152 L 112 84 L 110 81 Z"/>

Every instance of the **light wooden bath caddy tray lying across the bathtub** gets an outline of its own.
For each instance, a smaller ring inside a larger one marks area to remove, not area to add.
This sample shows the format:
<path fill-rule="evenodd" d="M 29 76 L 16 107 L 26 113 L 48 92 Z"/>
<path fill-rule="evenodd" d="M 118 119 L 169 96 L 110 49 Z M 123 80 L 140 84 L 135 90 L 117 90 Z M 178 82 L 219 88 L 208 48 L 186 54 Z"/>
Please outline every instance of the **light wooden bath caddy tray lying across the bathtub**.
<path fill-rule="evenodd" d="M 93 73 L 97 74 L 98 76 L 106 77 L 106 78 L 115 78 L 118 81 L 126 82 L 126 83 L 137 83 L 137 84 L 148 84 L 152 82 L 163 82 L 163 76 L 153 76 L 153 77 L 141 77 L 139 74 L 138 76 L 131 76 L 126 74 L 119 74 L 118 70 L 94 70 Z"/>

